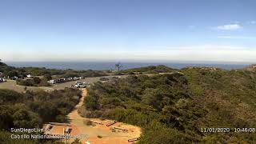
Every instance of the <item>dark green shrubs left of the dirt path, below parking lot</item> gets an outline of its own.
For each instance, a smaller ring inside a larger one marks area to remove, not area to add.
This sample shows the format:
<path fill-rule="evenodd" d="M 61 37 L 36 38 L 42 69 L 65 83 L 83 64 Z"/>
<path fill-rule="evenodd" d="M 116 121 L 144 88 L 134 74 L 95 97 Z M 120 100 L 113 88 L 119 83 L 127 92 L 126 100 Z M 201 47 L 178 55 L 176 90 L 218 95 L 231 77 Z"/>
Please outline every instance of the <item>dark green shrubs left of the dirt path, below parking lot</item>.
<path fill-rule="evenodd" d="M 11 139 L 10 128 L 39 128 L 45 122 L 66 122 L 66 114 L 73 110 L 79 98 L 81 91 L 70 88 L 25 94 L 0 89 L 0 142 L 52 143 L 43 139 Z"/>

